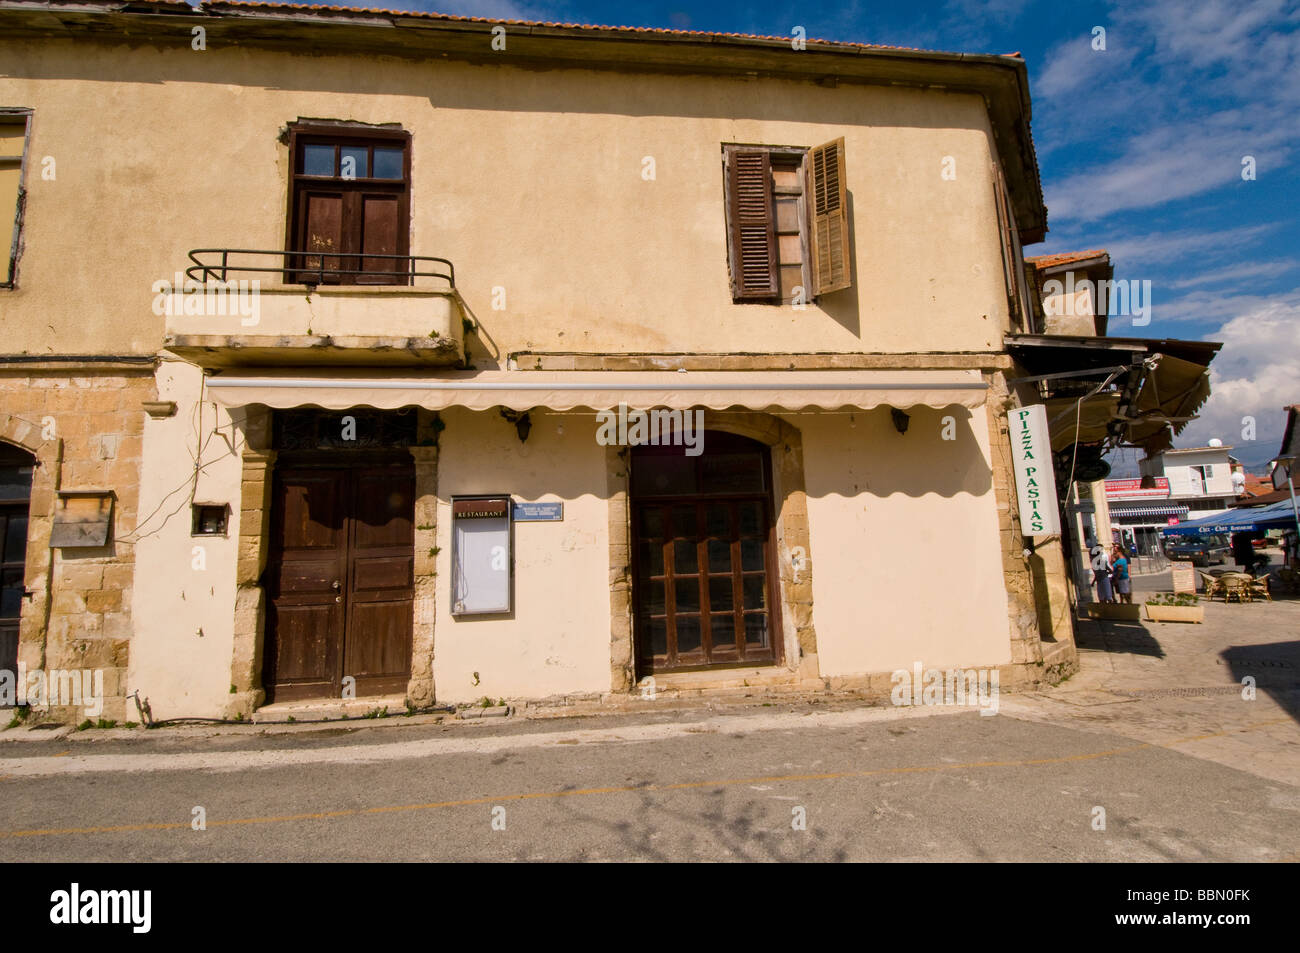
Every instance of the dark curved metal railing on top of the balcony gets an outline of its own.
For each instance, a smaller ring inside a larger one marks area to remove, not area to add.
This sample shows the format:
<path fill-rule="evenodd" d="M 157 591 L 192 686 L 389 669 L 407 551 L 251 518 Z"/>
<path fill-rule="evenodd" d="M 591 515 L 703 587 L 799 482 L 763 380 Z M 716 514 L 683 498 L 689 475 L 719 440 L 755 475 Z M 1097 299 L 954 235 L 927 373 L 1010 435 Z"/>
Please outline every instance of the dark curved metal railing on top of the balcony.
<path fill-rule="evenodd" d="M 280 264 L 261 263 L 278 259 Z M 231 274 L 277 274 L 286 285 L 408 285 L 454 291 L 456 270 L 447 259 L 426 255 L 324 255 L 268 248 L 195 248 L 185 277 L 200 285 L 226 282 Z M 374 267 L 378 263 L 381 267 Z"/>

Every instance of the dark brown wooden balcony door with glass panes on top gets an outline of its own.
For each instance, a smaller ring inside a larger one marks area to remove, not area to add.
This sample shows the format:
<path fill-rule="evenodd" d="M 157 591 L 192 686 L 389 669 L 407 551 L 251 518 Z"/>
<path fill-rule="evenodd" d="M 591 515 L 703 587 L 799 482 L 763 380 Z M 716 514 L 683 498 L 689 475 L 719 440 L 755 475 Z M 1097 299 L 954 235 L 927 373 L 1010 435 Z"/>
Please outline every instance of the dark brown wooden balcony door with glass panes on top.
<path fill-rule="evenodd" d="M 295 122 L 289 137 L 290 281 L 410 283 L 411 134 Z"/>

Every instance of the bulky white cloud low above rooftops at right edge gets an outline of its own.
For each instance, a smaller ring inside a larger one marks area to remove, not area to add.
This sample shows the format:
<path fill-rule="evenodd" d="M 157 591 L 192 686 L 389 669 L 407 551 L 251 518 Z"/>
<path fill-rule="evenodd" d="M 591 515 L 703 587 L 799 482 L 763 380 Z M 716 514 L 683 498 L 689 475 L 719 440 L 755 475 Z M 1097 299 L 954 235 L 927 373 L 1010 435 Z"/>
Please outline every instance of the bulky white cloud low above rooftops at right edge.
<path fill-rule="evenodd" d="M 1206 335 L 1223 348 L 1210 364 L 1210 398 L 1178 446 L 1202 446 L 1212 437 L 1243 446 L 1245 417 L 1254 419 L 1257 445 L 1282 442 L 1282 408 L 1300 403 L 1300 289 L 1249 300 L 1248 309 Z"/>

